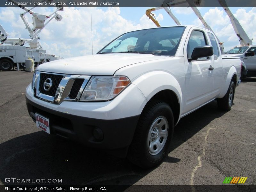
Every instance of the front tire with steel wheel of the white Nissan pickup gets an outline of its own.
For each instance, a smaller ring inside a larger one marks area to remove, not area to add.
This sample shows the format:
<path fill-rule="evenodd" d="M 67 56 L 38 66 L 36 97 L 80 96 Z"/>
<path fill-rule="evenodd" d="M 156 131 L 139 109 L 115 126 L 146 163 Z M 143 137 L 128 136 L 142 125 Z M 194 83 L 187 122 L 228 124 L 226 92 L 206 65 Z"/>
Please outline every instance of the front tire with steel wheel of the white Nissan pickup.
<path fill-rule="evenodd" d="M 160 100 L 149 101 L 141 113 L 127 158 L 142 168 L 160 164 L 168 155 L 173 127 L 171 107 Z"/>

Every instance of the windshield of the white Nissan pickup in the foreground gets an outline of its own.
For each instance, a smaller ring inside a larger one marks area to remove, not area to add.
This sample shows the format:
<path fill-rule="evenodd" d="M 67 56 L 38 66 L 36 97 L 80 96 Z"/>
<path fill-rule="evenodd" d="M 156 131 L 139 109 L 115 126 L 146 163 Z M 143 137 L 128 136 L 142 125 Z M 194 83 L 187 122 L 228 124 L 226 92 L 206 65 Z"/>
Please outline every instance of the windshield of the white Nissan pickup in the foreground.
<path fill-rule="evenodd" d="M 117 37 L 97 54 L 142 53 L 174 56 L 185 27 L 166 27 L 132 31 Z"/>

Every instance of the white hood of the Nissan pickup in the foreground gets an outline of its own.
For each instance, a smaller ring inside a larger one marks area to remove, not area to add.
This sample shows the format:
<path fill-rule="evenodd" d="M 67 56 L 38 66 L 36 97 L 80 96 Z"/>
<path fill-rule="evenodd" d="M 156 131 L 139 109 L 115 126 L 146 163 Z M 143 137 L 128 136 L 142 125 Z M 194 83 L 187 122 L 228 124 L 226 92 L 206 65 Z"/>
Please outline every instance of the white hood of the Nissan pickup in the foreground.
<path fill-rule="evenodd" d="M 70 75 L 114 75 L 125 66 L 164 58 L 137 53 L 97 54 L 51 61 L 39 65 L 36 70 Z"/>

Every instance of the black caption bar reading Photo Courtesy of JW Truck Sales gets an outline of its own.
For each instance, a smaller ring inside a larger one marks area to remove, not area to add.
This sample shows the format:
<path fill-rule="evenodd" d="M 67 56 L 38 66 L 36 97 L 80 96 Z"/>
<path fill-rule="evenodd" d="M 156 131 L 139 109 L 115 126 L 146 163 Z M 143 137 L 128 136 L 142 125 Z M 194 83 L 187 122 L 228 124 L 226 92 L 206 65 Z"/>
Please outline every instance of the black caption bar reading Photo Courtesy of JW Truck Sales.
<path fill-rule="evenodd" d="M 256 191 L 255 185 L 106 185 L 106 186 L 23 186 L 23 185 L 12 185 L 12 186 L 0 186 L 2 192 L 12 191 L 102 191 L 102 192 L 201 192 L 201 191 L 212 191 L 212 192 L 254 192 Z"/>

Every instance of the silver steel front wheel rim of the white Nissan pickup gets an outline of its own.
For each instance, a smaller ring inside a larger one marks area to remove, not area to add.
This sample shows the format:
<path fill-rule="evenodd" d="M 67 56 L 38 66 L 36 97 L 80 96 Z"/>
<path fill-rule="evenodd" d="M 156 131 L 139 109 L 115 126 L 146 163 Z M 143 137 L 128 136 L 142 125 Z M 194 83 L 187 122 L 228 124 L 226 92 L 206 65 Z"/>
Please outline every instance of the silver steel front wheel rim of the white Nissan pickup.
<path fill-rule="evenodd" d="M 148 132 L 148 152 L 157 155 L 164 148 L 168 137 L 169 125 L 164 116 L 159 116 L 151 124 Z"/>

